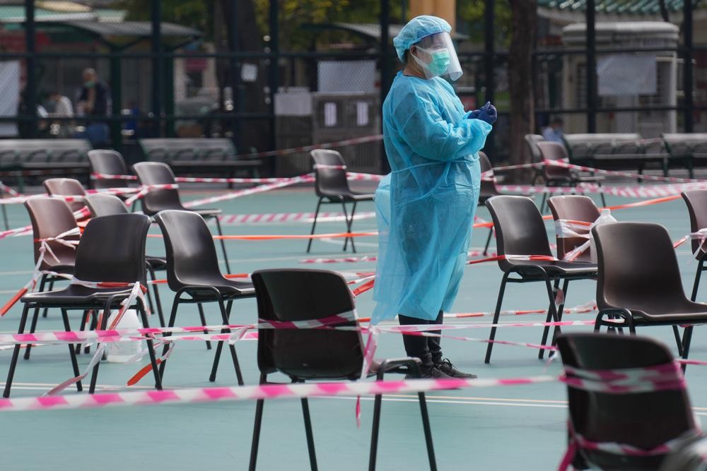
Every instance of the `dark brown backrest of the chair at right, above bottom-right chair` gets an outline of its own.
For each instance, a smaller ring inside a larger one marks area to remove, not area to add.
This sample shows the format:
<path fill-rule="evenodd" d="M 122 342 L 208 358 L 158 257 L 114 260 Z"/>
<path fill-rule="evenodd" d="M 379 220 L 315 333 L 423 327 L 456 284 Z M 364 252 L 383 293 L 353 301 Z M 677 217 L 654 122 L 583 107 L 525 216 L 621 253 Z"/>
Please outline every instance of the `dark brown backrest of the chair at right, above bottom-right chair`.
<path fill-rule="evenodd" d="M 592 234 L 599 265 L 599 309 L 655 312 L 657 306 L 686 301 L 677 256 L 665 227 L 651 222 L 611 222 L 593 227 Z"/>

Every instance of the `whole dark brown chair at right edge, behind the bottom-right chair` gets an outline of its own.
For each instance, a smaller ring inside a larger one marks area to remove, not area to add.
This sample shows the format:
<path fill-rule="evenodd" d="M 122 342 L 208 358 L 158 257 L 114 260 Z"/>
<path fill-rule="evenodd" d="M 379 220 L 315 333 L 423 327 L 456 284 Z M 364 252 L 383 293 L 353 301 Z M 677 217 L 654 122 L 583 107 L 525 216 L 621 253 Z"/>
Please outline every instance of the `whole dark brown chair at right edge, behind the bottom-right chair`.
<path fill-rule="evenodd" d="M 707 306 L 692 302 L 682 289 L 677 256 L 665 227 L 649 222 L 614 222 L 592 228 L 599 276 L 595 330 L 615 328 L 612 320 L 636 333 L 637 326 L 681 326 L 705 323 Z M 687 358 L 692 327 L 680 339 L 679 354 Z"/>

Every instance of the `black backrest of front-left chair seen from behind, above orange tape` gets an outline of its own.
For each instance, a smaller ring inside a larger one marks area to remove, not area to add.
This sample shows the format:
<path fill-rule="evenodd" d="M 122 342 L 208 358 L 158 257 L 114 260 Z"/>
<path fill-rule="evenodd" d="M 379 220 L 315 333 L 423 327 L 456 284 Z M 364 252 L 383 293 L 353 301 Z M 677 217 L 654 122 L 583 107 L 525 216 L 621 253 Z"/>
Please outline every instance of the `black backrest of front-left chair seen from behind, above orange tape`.
<path fill-rule="evenodd" d="M 150 218 L 144 214 L 93 217 L 76 249 L 74 275 L 82 281 L 146 285 L 145 245 Z"/>

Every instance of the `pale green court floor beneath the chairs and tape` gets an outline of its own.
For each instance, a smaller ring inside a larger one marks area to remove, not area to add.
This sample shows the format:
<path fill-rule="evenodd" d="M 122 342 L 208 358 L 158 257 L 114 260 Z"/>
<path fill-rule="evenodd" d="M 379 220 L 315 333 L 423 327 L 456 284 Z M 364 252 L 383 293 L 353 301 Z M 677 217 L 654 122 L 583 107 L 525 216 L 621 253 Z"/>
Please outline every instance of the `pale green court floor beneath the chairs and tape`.
<path fill-rule="evenodd" d="M 195 199 L 212 191 L 188 189 L 183 199 Z M 609 204 L 628 200 L 609 198 Z M 598 201 L 598 200 L 597 200 Z M 284 189 L 238 198 L 214 207 L 226 214 L 289 213 L 312 211 L 316 203 L 311 188 Z M 21 205 L 9 210 L 11 227 L 28 224 Z M 325 210 L 337 210 L 335 205 Z M 373 210 L 364 203 L 361 211 Z M 486 208 L 478 215 L 490 219 Z M 645 208 L 614 212 L 619 220 L 660 222 L 668 227 L 674 239 L 689 232 L 689 219 L 682 200 Z M 551 224 L 547 225 L 551 233 Z M 343 222 L 322 222 L 320 232 L 342 232 Z M 355 230 L 375 229 L 375 220 L 357 221 Z M 158 233 L 154 227 L 152 232 Z M 228 234 L 306 234 L 307 223 L 279 225 L 229 225 Z M 472 246 L 486 240 L 487 229 L 474 232 Z M 551 233 L 554 241 L 554 234 Z M 303 258 L 341 256 L 339 240 L 316 241 L 312 254 L 305 254 L 306 241 L 268 242 L 230 241 L 228 254 L 234 273 L 261 268 L 325 268 L 335 270 L 373 270 L 375 263 L 338 263 L 305 265 Z M 149 239 L 148 251 L 160 252 L 160 239 Z M 9 299 L 29 279 L 33 268 L 30 237 L 0 240 L 0 297 Z M 375 238 L 358 239 L 359 255 L 373 255 Z M 350 254 L 350 252 L 349 252 Z M 646 254 L 650 256 L 650 254 Z M 678 259 L 686 287 L 691 287 L 696 263 L 691 261 L 689 246 L 678 249 Z M 469 266 L 454 311 L 491 311 L 496 302 L 501 271 L 496 263 Z M 165 310 L 171 306 L 168 287 L 160 287 Z M 509 285 L 504 309 L 542 309 L 547 307 L 547 294 L 540 284 Z M 706 301 L 707 287 L 698 300 Z M 573 282 L 567 293 L 567 306 L 583 304 L 595 298 L 595 283 Z M 220 320 L 214 306 L 205 305 L 209 323 Z M 373 309 L 371 292 L 357 299 L 360 316 Z M 16 331 L 21 313 L 18 305 L 0 318 L 0 331 Z M 256 320 L 255 300 L 237 302 L 234 322 Z M 567 319 L 591 320 L 593 314 L 572 314 Z M 543 315 L 505 317 L 503 321 L 542 321 Z M 463 322 L 486 323 L 490 318 Z M 71 318 L 78 328 L 79 314 Z M 451 322 L 451 321 L 450 321 Z M 456 321 L 462 322 L 462 321 Z M 177 325 L 199 323 L 194 306 L 184 306 Z M 153 317 L 153 325 L 158 325 Z M 38 330 L 63 330 L 58 311 L 40 319 Z M 589 331 L 590 327 L 568 328 L 567 331 Z M 538 342 L 542 328 L 503 328 L 499 340 Z M 707 360 L 707 338 L 703 330 L 695 330 L 691 357 Z M 675 351 L 669 327 L 645 328 L 641 335 L 663 340 Z M 487 328 L 464 330 L 460 335 L 488 338 Z M 445 355 L 457 367 L 472 371 L 481 378 L 510 378 L 539 374 L 558 374 L 559 362 L 546 364 L 537 359 L 537 351 L 525 347 L 496 345 L 490 365 L 483 363 L 486 345 L 479 342 L 445 340 Z M 255 342 L 237 344 L 245 382 L 255 384 L 259 373 L 255 358 Z M 235 385 L 235 374 L 228 356 L 223 357 L 216 383 L 208 376 L 213 350 L 203 342 L 180 342 L 170 357 L 165 373 L 165 388 L 191 388 L 216 384 Z M 404 354 L 399 335 L 384 334 L 376 357 L 400 357 Z M 0 382 L 4 381 L 11 356 L 0 350 Z M 89 355 L 79 357 L 81 368 Z M 124 389 L 127 379 L 147 360 L 137 364 L 104 362 L 100 369 L 99 390 Z M 687 381 L 695 412 L 707 415 L 707 370 L 691 366 Z M 12 396 L 35 396 L 71 376 L 66 346 L 45 346 L 33 350 L 29 361 L 20 360 Z M 146 376 L 135 388 L 151 388 Z M 274 377 L 273 377 L 274 378 Z M 75 394 L 75 390 L 67 390 Z M 84 393 L 85 394 L 85 393 Z M 356 428 L 355 398 L 315 398 L 310 400 L 317 457 L 321 470 L 363 470 L 368 464 L 372 398 L 363 398 L 363 424 Z M 561 383 L 502 388 L 468 388 L 428 394 L 434 443 L 440 470 L 550 470 L 559 463 L 566 445 L 566 393 Z M 245 470 L 250 453 L 254 402 L 208 403 L 201 405 L 164 405 L 151 407 L 118 407 L 94 410 L 52 412 L 9 412 L 0 414 L 0 469 L 3 470 L 193 470 L 198 467 Z M 380 470 L 424 470 L 426 452 L 415 395 L 389 395 L 382 408 L 378 454 Z M 259 453 L 259 469 L 306 470 L 308 454 L 303 420 L 298 400 L 271 400 L 265 403 Z"/>

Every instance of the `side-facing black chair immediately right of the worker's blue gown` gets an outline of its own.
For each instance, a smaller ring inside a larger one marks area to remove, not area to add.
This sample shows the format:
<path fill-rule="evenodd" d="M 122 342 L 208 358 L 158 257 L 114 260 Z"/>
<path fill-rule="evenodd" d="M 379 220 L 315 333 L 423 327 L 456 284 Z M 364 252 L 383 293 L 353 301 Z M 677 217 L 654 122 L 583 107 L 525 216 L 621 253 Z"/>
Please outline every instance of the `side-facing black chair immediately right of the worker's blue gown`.
<path fill-rule="evenodd" d="M 496 229 L 496 251 L 499 256 L 527 256 L 540 255 L 552 257 L 552 251 L 547 239 L 547 232 L 537 206 L 532 199 L 526 196 L 493 196 L 486 201 L 493 227 Z M 564 309 L 564 299 L 570 280 L 593 280 L 597 276 L 597 266 L 593 263 L 565 262 L 565 261 L 521 261 L 501 259 L 498 267 L 503 271 L 501 288 L 498 290 L 498 302 L 493 314 L 493 323 L 498 323 L 501 314 L 503 295 L 506 292 L 506 283 L 544 282 L 549 299 L 546 322 L 561 321 Z M 511 278 L 510 275 L 518 275 Z M 555 305 L 555 294 L 562 284 L 564 293 L 563 301 Z M 545 345 L 549 327 L 543 329 L 541 344 Z M 560 328 L 554 328 L 554 338 L 560 333 Z M 493 340 L 496 338 L 496 327 L 491 328 L 488 347 L 486 347 L 485 363 L 491 362 Z M 542 358 L 544 350 L 540 350 L 538 358 Z"/>

